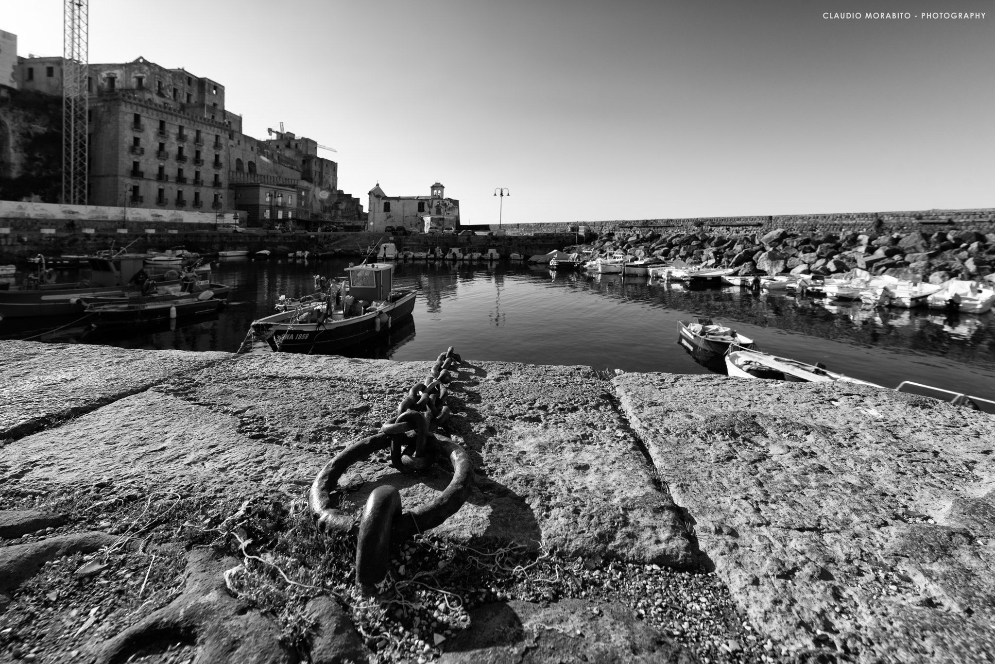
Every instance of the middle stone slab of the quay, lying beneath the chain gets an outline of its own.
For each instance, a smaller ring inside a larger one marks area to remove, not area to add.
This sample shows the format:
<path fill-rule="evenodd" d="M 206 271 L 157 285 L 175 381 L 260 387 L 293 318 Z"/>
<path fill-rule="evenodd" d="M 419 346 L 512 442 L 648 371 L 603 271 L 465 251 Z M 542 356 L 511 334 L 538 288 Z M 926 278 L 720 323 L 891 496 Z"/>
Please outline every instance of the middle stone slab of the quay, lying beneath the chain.
<path fill-rule="evenodd" d="M 395 415 L 401 397 L 430 367 L 249 355 L 205 371 L 185 398 L 238 412 L 250 435 L 330 459 Z M 455 416 L 449 430 L 479 472 L 468 503 L 437 534 L 567 554 L 696 563 L 673 502 L 654 486 L 651 464 L 624 428 L 611 383 L 589 367 L 473 362 L 458 368 L 450 387 Z M 401 475 L 384 454 L 355 464 L 342 478 L 351 490 L 345 506 L 358 511 L 381 484 L 398 487 L 405 506 L 418 505 L 450 478 L 439 467 Z"/>

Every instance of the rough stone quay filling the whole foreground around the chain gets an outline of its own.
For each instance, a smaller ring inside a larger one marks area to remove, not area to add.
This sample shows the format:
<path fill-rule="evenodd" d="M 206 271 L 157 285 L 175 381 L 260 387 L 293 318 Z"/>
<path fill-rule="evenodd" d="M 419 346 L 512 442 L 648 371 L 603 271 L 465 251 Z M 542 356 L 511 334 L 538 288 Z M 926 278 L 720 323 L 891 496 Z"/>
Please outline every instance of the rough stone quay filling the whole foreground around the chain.
<path fill-rule="evenodd" d="M 258 526 L 245 505 L 236 514 L 244 498 L 293 511 L 317 470 L 376 430 L 431 365 L 28 341 L 0 341 L 0 354 L 0 648 L 67 661 L 110 661 L 105 644 L 126 644 L 129 626 L 156 616 L 200 634 L 180 644 L 186 659 L 297 661 L 276 614 L 261 610 L 266 597 L 239 585 L 248 559 L 236 566 L 206 545 L 233 520 Z M 471 551 L 554 552 L 592 576 L 559 594 L 488 594 L 468 604 L 462 630 L 435 626 L 450 610 L 440 599 L 435 617 L 407 627 L 421 635 L 410 661 L 964 662 L 995 652 L 991 416 L 858 385 L 605 380 L 583 366 L 468 360 L 447 426 L 477 487 L 434 536 Z M 341 485 L 359 510 L 382 482 L 409 506 L 447 481 L 370 459 Z M 73 519 L 45 514 L 81 490 L 100 500 Z M 212 516 L 226 496 L 232 513 Z M 181 500 L 203 511 L 162 530 Z M 143 519 L 156 501 L 161 520 Z M 177 548 L 201 521 L 210 536 Z M 259 559 L 298 569 L 260 542 Z M 163 564 L 178 571 L 157 576 Z M 415 561 L 405 550 L 392 564 L 404 578 Z M 64 568 L 63 585 L 45 585 Z M 445 584 L 432 578 L 422 577 Z M 688 585 L 696 578 L 713 578 L 711 589 Z M 335 597 L 307 603 L 324 631 L 304 654 L 387 661 L 389 634 L 360 638 L 364 614 Z M 721 597 L 729 619 L 699 620 Z M 674 611 L 682 617 L 658 619 Z"/>

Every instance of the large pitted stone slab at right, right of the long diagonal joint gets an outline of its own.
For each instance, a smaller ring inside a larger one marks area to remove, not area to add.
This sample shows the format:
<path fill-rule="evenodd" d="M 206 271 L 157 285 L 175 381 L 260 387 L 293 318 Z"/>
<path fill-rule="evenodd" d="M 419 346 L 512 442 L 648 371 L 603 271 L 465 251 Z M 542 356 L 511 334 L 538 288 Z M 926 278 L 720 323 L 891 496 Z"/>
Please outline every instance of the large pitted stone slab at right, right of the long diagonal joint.
<path fill-rule="evenodd" d="M 859 662 L 990 661 L 991 416 L 845 384 L 614 383 L 757 627 Z"/>

